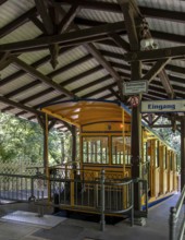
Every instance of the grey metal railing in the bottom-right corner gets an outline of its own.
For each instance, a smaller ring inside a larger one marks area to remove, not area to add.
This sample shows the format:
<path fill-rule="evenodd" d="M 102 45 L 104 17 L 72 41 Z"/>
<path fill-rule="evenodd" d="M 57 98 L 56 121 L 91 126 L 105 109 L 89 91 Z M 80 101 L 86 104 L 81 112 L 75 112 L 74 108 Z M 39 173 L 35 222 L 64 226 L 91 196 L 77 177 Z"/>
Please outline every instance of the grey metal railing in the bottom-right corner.
<path fill-rule="evenodd" d="M 182 240 L 185 232 L 185 216 L 184 216 L 185 185 L 176 206 L 170 208 L 169 218 L 169 239 Z"/>

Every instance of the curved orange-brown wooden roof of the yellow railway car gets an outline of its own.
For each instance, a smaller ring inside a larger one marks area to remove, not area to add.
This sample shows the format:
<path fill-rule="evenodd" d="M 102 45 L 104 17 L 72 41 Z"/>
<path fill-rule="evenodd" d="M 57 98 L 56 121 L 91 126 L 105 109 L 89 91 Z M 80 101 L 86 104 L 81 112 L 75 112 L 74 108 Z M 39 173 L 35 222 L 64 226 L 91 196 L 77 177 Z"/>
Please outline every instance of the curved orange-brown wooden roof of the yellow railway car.
<path fill-rule="evenodd" d="M 124 121 L 131 123 L 132 111 L 121 101 L 97 100 L 97 99 L 73 99 L 57 101 L 51 105 L 41 106 L 41 110 L 49 116 L 65 121 L 70 124 L 81 128 L 85 124 L 98 122 L 122 122 L 124 110 Z M 161 139 L 144 121 L 143 127 L 146 130 L 148 139 L 158 139 L 162 144 L 173 149 L 163 139 Z M 174 151 L 174 149 L 173 149 Z"/>

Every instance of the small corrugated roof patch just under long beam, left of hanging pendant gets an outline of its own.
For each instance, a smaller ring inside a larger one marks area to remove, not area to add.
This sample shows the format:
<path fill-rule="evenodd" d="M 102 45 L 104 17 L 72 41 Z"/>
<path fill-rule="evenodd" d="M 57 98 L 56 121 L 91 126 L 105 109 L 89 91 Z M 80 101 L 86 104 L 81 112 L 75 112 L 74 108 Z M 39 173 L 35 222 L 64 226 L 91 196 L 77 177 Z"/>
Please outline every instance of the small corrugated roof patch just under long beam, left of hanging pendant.
<path fill-rule="evenodd" d="M 32 63 L 38 61 L 39 59 L 45 58 L 48 55 L 49 55 L 49 50 L 46 49 L 46 50 L 23 53 L 23 55 L 18 56 L 18 59 L 26 62 L 27 64 L 32 64 Z"/>

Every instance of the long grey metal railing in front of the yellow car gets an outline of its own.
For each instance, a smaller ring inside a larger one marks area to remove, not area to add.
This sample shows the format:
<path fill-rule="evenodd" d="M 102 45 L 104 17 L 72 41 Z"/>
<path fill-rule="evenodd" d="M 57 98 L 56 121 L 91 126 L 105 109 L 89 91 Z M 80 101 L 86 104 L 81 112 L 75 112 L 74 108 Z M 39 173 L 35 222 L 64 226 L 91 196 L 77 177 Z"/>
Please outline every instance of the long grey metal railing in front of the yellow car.
<path fill-rule="evenodd" d="M 101 230 L 104 229 L 104 215 L 127 214 L 133 226 L 132 179 L 110 179 L 104 170 L 99 175 L 86 172 L 85 178 L 79 169 L 61 172 L 54 178 L 0 173 L 0 199 L 99 214 Z"/>

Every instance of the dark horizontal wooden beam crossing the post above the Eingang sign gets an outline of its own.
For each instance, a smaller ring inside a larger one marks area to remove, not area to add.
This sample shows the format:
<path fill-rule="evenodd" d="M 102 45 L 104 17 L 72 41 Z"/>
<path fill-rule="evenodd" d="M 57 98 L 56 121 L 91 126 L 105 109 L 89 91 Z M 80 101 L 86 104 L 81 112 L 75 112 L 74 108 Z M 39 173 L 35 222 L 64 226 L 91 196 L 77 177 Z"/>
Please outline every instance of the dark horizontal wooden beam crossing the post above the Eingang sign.
<path fill-rule="evenodd" d="M 157 59 L 184 57 L 185 46 L 160 48 L 145 51 L 127 52 L 124 55 L 126 61 L 156 61 Z"/>

